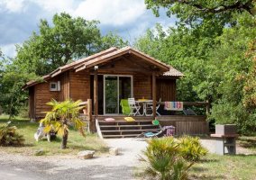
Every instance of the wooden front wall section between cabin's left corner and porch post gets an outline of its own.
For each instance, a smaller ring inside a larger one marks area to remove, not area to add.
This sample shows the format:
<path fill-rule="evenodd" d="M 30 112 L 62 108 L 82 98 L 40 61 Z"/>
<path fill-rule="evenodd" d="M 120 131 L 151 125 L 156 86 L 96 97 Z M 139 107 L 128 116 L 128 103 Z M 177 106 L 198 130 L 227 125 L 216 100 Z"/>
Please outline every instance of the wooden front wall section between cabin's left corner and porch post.
<path fill-rule="evenodd" d="M 75 73 L 69 72 L 70 98 L 74 101 L 78 99 L 87 101 L 90 98 L 90 75 L 87 71 Z"/>

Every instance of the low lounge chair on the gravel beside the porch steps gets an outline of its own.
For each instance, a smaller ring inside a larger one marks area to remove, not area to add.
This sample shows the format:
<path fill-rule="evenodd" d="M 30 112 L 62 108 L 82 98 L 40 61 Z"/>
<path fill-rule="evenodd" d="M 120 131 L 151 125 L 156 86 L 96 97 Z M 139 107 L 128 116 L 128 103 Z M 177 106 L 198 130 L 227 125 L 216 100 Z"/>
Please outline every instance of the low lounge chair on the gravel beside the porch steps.
<path fill-rule="evenodd" d="M 138 135 L 137 138 L 161 138 L 163 136 L 174 136 L 175 127 L 174 126 L 164 126 L 159 131 L 146 131 Z"/>

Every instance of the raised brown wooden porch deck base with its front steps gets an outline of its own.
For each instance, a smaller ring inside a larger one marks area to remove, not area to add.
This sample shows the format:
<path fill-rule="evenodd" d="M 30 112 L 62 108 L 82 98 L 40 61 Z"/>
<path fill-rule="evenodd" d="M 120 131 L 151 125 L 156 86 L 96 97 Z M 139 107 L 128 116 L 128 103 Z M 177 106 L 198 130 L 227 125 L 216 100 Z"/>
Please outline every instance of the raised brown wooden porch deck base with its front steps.
<path fill-rule="evenodd" d="M 106 122 L 104 119 L 106 117 L 114 118 L 114 122 Z M 134 137 L 142 131 L 149 131 L 158 128 L 154 128 L 151 125 L 153 117 L 151 116 L 133 116 L 134 122 L 124 121 L 125 116 L 97 116 L 96 124 L 98 126 L 97 130 L 101 130 L 103 138 L 125 138 L 123 134 L 127 136 Z M 93 121 L 96 121 L 96 116 L 93 116 Z M 157 116 L 160 121 L 161 126 L 172 125 L 176 128 L 175 134 L 180 135 L 204 135 L 209 133 L 209 125 L 206 121 L 206 116 L 201 115 L 166 115 Z M 144 122 L 144 123 L 143 123 Z M 105 135 L 105 137 L 104 137 Z"/>

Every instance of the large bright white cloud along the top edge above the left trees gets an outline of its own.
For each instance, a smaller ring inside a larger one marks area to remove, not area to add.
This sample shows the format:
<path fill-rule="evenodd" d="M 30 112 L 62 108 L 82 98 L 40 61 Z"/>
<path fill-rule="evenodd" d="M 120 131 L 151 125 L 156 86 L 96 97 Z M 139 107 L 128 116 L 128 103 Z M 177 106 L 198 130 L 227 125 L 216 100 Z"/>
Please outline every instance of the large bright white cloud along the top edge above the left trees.
<path fill-rule="evenodd" d="M 143 0 L 29 0 L 38 4 L 45 12 L 52 15 L 67 12 L 87 20 L 98 20 L 102 24 L 121 26 L 133 23 L 146 12 Z"/>

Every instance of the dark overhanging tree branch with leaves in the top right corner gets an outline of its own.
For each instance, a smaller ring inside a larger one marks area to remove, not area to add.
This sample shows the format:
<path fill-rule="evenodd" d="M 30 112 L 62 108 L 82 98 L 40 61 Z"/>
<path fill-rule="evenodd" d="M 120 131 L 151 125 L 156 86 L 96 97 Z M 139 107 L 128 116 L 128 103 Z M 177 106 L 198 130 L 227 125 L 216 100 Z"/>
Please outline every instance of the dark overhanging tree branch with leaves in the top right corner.
<path fill-rule="evenodd" d="M 145 4 L 156 15 L 159 15 L 160 7 L 166 8 L 167 15 L 177 15 L 180 23 L 201 23 L 211 19 L 224 24 L 231 23 L 236 13 L 256 14 L 254 0 L 145 0 Z"/>

